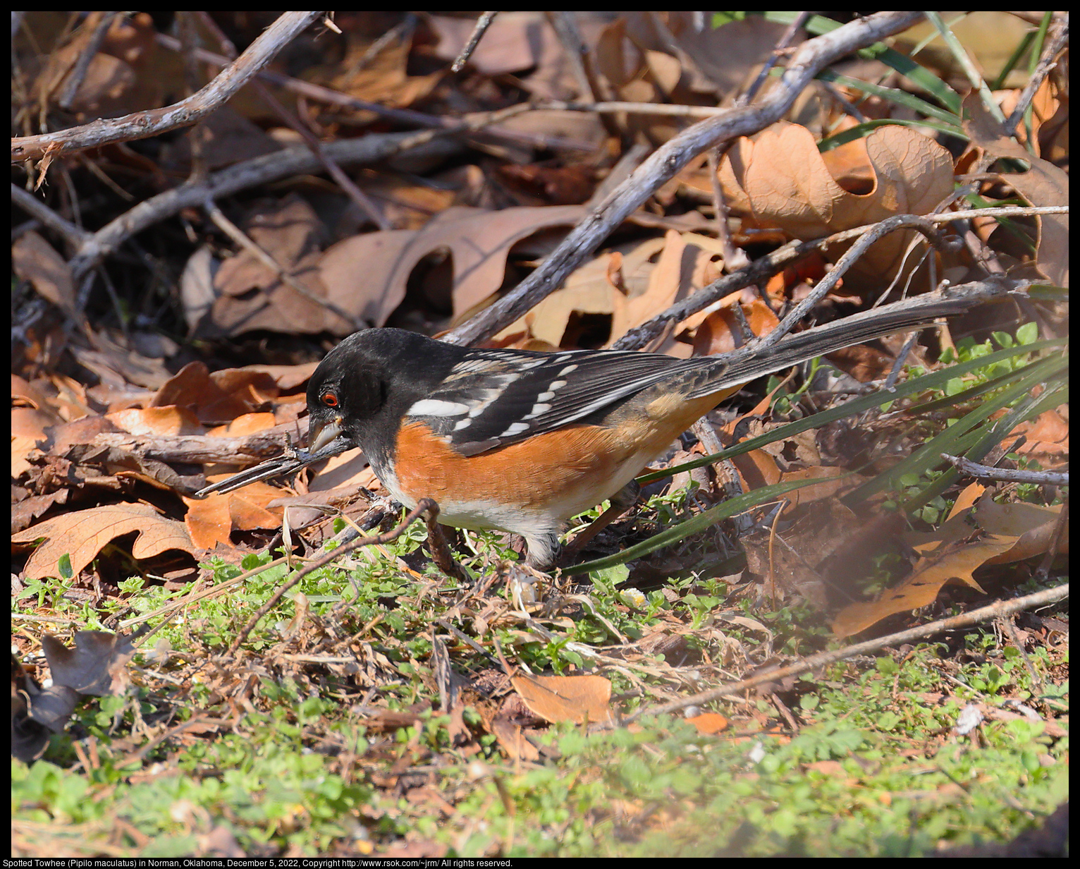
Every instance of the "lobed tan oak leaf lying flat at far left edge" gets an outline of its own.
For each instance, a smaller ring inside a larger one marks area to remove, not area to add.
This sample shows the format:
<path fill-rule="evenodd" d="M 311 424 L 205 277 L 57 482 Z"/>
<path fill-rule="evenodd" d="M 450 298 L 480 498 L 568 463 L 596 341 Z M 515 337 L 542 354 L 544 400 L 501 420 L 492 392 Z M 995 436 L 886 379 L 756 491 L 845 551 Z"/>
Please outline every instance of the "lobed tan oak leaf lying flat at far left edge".
<path fill-rule="evenodd" d="M 24 572 L 27 579 L 41 579 L 58 576 L 56 564 L 64 554 L 70 556 L 71 570 L 78 574 L 97 558 L 106 544 L 132 532 L 138 532 L 132 544 L 132 557 L 136 560 L 153 558 L 167 549 L 192 551 L 184 525 L 165 519 L 145 504 L 113 504 L 65 513 L 13 534 L 12 542 L 44 538 L 26 562 Z"/>

